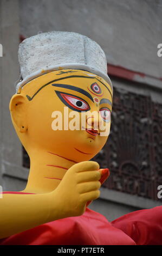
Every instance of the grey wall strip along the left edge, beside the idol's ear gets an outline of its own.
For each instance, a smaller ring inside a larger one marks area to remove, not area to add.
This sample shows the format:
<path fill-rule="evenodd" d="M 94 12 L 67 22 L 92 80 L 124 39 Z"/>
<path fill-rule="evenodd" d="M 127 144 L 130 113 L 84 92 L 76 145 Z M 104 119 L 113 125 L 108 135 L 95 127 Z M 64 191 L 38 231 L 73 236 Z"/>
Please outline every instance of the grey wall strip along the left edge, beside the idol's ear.
<path fill-rule="evenodd" d="M 15 94 L 15 82 L 19 76 L 17 49 L 19 44 L 19 13 L 18 1 L 1 0 L 0 2 L 0 42 L 3 45 L 1 58 L 1 179 L 3 190 L 13 187 L 20 188 L 18 181 L 12 176 L 18 175 L 22 166 L 22 148 L 11 123 L 9 102 Z M 23 185 L 24 186 L 24 185 Z"/>

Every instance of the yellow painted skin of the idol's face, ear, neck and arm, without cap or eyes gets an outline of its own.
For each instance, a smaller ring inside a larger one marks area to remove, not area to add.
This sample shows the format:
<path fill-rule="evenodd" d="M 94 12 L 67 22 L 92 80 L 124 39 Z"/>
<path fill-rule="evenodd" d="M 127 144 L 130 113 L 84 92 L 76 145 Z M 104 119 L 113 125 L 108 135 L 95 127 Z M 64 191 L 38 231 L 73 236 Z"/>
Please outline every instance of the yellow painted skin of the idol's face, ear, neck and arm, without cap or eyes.
<path fill-rule="evenodd" d="M 94 92 L 90 87 L 93 83 L 98 84 L 101 93 Z M 93 100 L 83 94 L 83 90 Z M 82 215 L 87 202 L 100 196 L 102 169 L 97 162 L 88 160 L 102 149 L 108 136 L 94 136 L 81 129 L 54 131 L 52 113 L 63 113 L 66 106 L 56 91 L 81 98 L 88 103 L 90 111 L 112 110 L 109 84 L 82 70 L 49 72 L 28 82 L 12 96 L 12 123 L 30 157 L 29 178 L 22 192 L 35 194 L 3 194 L 0 199 L 0 238 L 60 218 Z M 99 106 L 94 99 L 108 101 L 102 101 Z M 68 108 L 68 111 L 73 110 Z M 99 117 L 102 118 L 100 114 Z M 92 120 L 93 128 L 95 122 L 100 123 L 100 118 L 87 120 Z M 111 121 L 105 125 L 110 129 Z"/>

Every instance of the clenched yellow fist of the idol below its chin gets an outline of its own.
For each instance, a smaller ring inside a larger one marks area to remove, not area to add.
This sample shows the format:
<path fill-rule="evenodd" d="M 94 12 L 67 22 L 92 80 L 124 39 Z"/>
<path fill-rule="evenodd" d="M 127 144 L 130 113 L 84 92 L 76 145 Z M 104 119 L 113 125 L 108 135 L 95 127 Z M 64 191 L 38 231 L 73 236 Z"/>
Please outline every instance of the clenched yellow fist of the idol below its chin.
<path fill-rule="evenodd" d="M 82 215 L 87 202 L 100 196 L 101 172 L 93 161 L 76 163 L 67 170 L 59 186 L 50 192 L 53 202 L 57 200 L 61 218 Z"/>

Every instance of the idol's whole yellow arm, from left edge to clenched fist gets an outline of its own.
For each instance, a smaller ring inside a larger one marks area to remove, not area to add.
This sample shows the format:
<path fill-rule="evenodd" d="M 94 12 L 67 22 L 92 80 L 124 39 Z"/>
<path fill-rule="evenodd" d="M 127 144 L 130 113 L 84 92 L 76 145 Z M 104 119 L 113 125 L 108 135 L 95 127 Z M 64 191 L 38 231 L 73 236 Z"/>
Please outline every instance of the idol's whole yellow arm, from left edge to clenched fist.
<path fill-rule="evenodd" d="M 3 194 L 0 199 L 0 239 L 50 221 L 79 216 L 100 196 L 102 170 L 86 161 L 68 169 L 57 188 L 42 194 Z"/>

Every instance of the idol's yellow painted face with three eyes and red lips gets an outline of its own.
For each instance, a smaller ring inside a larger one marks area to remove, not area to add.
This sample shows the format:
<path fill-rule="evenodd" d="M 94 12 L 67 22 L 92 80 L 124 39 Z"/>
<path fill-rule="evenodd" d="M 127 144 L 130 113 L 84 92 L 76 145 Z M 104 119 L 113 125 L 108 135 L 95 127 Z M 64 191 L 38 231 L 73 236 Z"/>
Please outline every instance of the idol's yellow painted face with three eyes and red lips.
<path fill-rule="evenodd" d="M 111 126 L 112 90 L 101 77 L 61 70 L 21 89 L 28 99 L 28 145 L 74 161 L 92 159 Z M 92 113 L 93 112 L 93 113 Z"/>

